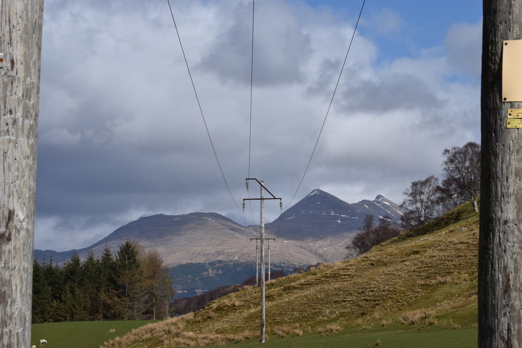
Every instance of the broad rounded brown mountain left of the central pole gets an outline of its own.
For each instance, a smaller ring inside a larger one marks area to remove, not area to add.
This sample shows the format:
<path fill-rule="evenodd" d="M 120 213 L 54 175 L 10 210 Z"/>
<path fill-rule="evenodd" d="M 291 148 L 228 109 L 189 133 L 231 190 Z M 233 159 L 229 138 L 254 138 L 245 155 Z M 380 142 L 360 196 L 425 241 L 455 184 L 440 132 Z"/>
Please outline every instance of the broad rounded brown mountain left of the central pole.
<path fill-rule="evenodd" d="M 110 235 L 87 248 L 57 253 L 52 250 L 34 250 L 34 256 L 53 257 L 56 262 L 70 258 L 76 251 L 85 258 L 92 250 L 101 255 L 105 245 L 115 253 L 127 239 L 137 242 L 141 248 L 156 249 L 169 267 L 184 263 L 210 261 L 252 261 L 256 235 L 250 229 L 216 213 L 190 213 L 183 215 L 157 214 L 143 217 L 121 226 Z M 292 265 L 310 265 L 324 261 L 321 255 L 303 250 L 299 244 L 271 245 L 273 253 L 283 248 L 277 262 Z"/>

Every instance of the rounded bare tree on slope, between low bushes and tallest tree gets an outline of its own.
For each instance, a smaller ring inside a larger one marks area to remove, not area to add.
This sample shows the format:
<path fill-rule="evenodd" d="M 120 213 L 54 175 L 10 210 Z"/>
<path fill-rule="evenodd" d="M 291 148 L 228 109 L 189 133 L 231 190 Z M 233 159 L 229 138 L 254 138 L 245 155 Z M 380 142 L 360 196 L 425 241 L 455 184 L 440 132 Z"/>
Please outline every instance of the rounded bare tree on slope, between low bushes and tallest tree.
<path fill-rule="evenodd" d="M 403 195 L 406 199 L 400 205 L 406 212 L 401 218 L 402 227 L 412 229 L 436 217 L 438 178 L 431 175 L 424 180 L 411 183 Z"/>

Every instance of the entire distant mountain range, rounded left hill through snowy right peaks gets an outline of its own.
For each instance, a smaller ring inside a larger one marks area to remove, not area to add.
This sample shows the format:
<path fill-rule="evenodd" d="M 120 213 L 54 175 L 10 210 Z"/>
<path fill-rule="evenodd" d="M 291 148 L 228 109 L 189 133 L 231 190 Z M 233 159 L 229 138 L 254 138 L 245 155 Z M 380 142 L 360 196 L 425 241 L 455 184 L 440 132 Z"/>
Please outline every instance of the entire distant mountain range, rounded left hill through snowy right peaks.
<path fill-rule="evenodd" d="M 288 273 L 296 267 L 342 260 L 346 245 L 367 213 L 376 220 L 388 214 L 398 221 L 400 216 L 398 206 L 382 196 L 351 205 L 325 191 L 313 190 L 266 224 L 266 237 L 275 238 L 266 244 L 272 270 Z M 129 222 L 87 248 L 61 252 L 35 249 L 34 257 L 63 262 L 74 252 L 84 259 L 89 250 L 99 257 L 105 246 L 115 254 L 132 239 L 145 250 L 156 249 L 176 279 L 179 296 L 191 296 L 241 283 L 254 275 L 257 245 L 252 239 L 258 237 L 254 226 L 245 227 L 217 213 L 157 214 Z"/>

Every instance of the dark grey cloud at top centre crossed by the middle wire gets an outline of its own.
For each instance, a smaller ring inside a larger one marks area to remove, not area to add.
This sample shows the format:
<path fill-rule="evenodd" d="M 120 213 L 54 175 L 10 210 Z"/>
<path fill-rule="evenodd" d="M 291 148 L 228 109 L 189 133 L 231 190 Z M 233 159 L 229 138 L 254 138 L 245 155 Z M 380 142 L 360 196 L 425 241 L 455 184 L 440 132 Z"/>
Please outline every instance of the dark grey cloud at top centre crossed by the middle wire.
<path fill-rule="evenodd" d="M 212 71 L 223 81 L 250 84 L 252 7 L 240 4 L 232 26 L 221 33 L 199 68 Z M 286 3 L 256 5 L 254 27 L 255 85 L 268 86 L 300 81 L 301 64 L 310 54 L 310 37 L 303 23 Z"/>

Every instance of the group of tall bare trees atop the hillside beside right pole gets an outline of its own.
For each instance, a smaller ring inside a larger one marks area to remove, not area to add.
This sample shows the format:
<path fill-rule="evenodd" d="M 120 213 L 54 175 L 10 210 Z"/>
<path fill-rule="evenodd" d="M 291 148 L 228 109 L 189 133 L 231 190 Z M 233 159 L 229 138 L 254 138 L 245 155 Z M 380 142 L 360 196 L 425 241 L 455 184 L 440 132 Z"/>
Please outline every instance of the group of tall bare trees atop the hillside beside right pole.
<path fill-rule="evenodd" d="M 410 230 L 443 213 L 471 201 L 478 212 L 480 195 L 480 145 L 468 142 L 462 147 L 454 146 L 442 153 L 443 180 L 431 175 L 414 181 L 404 191 L 406 199 L 401 208 L 405 210 L 402 227 Z"/>

